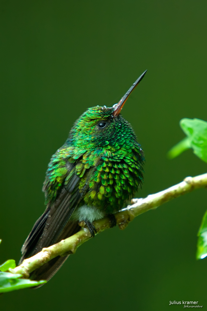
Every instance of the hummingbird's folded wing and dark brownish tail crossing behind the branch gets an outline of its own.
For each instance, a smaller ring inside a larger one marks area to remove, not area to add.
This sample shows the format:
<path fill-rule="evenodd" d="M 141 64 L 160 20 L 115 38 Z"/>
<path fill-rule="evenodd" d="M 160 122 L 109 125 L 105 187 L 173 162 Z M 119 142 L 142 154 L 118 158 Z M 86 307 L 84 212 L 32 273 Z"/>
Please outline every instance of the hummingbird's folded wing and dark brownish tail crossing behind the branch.
<path fill-rule="evenodd" d="M 35 222 L 23 244 L 19 264 L 24 259 L 40 252 L 42 248 L 58 243 L 81 229 L 78 222 L 71 221 L 70 217 L 86 193 L 87 181 L 93 174 L 98 161 L 96 158 L 88 163 L 87 154 L 81 154 L 78 159 L 76 156 L 76 160 L 74 160 L 71 157 L 61 156 L 62 153 L 60 150 L 58 157 L 55 154 L 49 163 L 43 186 L 47 208 Z M 52 259 L 32 272 L 30 278 L 33 280 L 49 280 L 67 258 L 68 256 L 58 256 Z"/>

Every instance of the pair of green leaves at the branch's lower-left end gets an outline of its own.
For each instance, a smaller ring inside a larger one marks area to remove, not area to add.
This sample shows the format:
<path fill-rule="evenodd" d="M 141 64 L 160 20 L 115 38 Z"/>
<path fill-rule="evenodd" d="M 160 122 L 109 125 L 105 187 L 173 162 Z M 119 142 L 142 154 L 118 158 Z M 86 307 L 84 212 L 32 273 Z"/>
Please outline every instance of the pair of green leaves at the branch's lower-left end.
<path fill-rule="evenodd" d="M 5 293 L 21 288 L 42 285 L 46 281 L 31 281 L 29 279 L 21 279 L 21 274 L 14 274 L 7 271 L 9 268 L 15 268 L 15 260 L 9 259 L 0 266 L 0 293 Z"/>

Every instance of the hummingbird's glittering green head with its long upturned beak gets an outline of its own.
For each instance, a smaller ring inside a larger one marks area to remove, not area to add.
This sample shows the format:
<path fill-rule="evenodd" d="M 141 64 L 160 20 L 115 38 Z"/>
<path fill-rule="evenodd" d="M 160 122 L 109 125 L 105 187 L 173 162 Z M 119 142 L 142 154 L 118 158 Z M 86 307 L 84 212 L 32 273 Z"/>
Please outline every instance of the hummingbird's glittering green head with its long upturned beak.
<path fill-rule="evenodd" d="M 131 125 L 122 117 L 120 111 L 145 73 L 146 71 L 135 81 L 118 104 L 110 108 L 106 106 L 88 108 L 74 123 L 69 134 L 70 143 L 87 150 L 97 147 L 107 149 L 115 143 L 124 144 L 129 136 L 135 139 Z"/>

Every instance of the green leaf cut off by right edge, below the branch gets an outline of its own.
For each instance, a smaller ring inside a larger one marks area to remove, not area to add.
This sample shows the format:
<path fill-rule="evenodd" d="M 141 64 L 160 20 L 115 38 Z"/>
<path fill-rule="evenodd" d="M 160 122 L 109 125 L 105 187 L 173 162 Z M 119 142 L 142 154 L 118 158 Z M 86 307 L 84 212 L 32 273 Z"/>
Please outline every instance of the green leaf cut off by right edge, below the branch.
<path fill-rule="evenodd" d="M 198 231 L 196 258 L 203 259 L 207 256 L 207 211 L 205 212 Z"/>

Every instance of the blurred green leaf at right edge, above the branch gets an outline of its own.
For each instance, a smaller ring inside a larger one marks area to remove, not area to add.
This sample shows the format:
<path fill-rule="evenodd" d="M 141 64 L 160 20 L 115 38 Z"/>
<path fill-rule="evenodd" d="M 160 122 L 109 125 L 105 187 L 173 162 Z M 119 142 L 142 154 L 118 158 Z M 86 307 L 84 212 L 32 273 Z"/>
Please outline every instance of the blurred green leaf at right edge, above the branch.
<path fill-rule="evenodd" d="M 172 147 L 168 157 L 173 159 L 186 149 L 192 148 L 196 156 L 207 162 L 207 122 L 184 118 L 180 121 L 180 126 L 187 137 Z"/>

